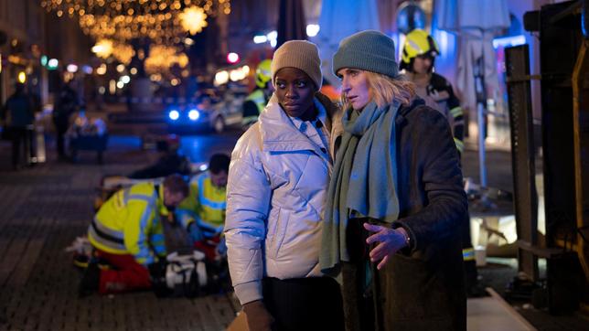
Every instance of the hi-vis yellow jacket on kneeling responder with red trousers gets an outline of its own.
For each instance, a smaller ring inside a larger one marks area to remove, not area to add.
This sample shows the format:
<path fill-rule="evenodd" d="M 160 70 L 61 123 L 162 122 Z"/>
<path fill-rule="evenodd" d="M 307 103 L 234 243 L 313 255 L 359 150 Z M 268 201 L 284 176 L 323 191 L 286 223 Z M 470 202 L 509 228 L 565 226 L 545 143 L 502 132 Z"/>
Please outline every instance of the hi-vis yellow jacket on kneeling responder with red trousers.
<path fill-rule="evenodd" d="M 122 189 L 109 198 L 96 213 L 88 229 L 88 239 L 99 250 L 132 254 L 147 265 L 166 254 L 164 227 L 166 215 L 164 187 L 141 183 Z"/>

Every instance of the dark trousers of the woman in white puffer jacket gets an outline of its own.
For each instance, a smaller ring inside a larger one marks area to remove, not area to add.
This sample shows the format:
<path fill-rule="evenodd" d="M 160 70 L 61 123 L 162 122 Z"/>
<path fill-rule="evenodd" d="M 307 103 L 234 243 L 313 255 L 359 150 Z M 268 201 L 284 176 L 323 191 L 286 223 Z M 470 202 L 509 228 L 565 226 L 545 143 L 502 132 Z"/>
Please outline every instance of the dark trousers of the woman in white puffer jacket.
<path fill-rule="evenodd" d="M 275 330 L 344 330 L 341 293 L 333 278 L 264 278 L 262 292 Z"/>

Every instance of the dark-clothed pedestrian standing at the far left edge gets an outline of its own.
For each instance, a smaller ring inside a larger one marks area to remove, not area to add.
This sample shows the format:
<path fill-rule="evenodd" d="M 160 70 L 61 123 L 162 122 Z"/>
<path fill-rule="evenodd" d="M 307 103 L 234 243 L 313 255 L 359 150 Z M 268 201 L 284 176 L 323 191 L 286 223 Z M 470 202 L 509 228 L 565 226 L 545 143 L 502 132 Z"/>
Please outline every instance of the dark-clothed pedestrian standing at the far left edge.
<path fill-rule="evenodd" d="M 35 101 L 25 91 L 25 85 L 16 83 L 12 94 L 2 109 L 2 120 L 5 130 L 12 141 L 12 167 L 18 170 L 23 162 L 21 151 L 24 151 L 27 165 L 33 155 L 33 122 L 35 121 Z"/>

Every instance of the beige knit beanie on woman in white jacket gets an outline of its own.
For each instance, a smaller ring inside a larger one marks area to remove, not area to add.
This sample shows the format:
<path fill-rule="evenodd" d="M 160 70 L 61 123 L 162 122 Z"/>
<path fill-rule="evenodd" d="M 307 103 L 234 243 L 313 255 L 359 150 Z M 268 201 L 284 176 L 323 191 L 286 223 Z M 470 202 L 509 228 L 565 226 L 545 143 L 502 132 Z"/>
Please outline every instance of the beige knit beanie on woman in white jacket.
<path fill-rule="evenodd" d="M 276 72 L 283 68 L 296 68 L 305 73 L 315 82 L 317 91 L 321 89 L 323 76 L 321 75 L 321 60 L 316 45 L 306 40 L 290 40 L 274 51 L 272 59 L 272 83 Z"/>

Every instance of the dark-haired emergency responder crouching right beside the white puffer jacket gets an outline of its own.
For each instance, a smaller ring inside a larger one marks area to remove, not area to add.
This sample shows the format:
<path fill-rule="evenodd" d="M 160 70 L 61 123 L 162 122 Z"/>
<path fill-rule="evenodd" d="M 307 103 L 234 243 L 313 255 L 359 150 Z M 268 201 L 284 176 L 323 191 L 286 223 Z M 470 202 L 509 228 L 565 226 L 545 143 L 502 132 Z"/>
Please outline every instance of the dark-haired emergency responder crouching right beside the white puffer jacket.
<path fill-rule="evenodd" d="M 190 180 L 190 194 L 176 211 L 179 223 L 188 231 L 195 248 L 203 251 L 209 262 L 226 251 L 220 234 L 225 224 L 229 164 L 228 155 L 212 155 L 209 170 Z"/>

